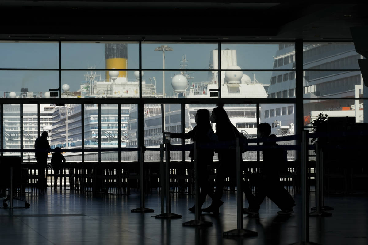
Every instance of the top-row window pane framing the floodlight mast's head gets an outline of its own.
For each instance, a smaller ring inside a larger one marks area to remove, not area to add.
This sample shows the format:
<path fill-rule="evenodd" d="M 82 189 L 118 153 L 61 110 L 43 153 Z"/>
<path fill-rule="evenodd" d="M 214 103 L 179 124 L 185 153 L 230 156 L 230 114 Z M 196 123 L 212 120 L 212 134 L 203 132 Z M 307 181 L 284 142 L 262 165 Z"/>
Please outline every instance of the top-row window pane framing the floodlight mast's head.
<path fill-rule="evenodd" d="M 217 43 L 142 43 L 142 68 L 218 69 L 218 47 Z"/>

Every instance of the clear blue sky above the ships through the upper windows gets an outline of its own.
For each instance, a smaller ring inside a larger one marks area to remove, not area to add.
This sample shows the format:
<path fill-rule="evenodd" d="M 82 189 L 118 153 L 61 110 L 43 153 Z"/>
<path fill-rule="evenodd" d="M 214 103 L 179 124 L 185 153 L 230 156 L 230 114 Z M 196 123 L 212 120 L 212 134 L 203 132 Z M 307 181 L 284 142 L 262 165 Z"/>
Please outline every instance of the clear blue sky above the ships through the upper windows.
<path fill-rule="evenodd" d="M 142 69 L 162 69 L 162 51 L 154 51 L 156 47 L 166 44 L 173 51 L 165 52 L 165 68 L 180 69 L 183 55 L 187 57 L 188 69 L 208 69 L 210 52 L 218 47 L 217 43 L 142 43 Z M 237 65 L 243 69 L 272 69 L 273 56 L 278 44 L 222 44 L 222 49 L 230 48 L 237 51 Z M 61 43 L 61 68 L 86 69 L 95 67 L 105 69 L 104 43 Z M 59 44 L 57 42 L 0 42 L 0 68 L 59 68 Z M 139 45 L 128 43 L 128 69 L 139 68 Z M 70 85 L 70 91 L 80 88 L 85 81 L 85 71 L 63 71 L 61 84 Z M 171 78 L 178 72 L 165 72 L 166 91 L 172 91 Z M 252 72 L 244 72 L 253 78 Z M 105 79 L 105 72 L 101 71 L 101 78 Z M 208 72 L 188 72 L 193 82 L 207 81 Z M 150 83 L 149 78 L 155 76 L 157 91 L 162 91 L 162 72 L 146 71 L 143 79 Z M 256 72 L 256 79 L 260 83 L 269 83 L 271 72 Z M 128 79 L 135 79 L 134 72 L 128 72 Z M 51 88 L 59 87 L 58 71 L 0 71 L 0 96 L 4 91 L 15 91 L 20 88 L 29 91 L 45 93 Z"/>

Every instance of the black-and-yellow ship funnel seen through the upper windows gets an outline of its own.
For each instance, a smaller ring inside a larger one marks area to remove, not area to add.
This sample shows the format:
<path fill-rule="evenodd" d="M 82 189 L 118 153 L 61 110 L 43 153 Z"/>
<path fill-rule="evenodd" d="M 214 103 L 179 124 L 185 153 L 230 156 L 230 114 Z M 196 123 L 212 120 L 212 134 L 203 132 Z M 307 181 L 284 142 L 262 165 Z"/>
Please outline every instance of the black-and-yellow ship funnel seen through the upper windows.
<path fill-rule="evenodd" d="M 127 69 L 128 67 L 128 48 L 127 44 L 106 43 L 105 44 L 105 62 L 106 69 Z M 120 71 L 120 78 L 126 78 L 127 72 Z M 109 71 L 106 71 L 106 79 L 110 80 Z"/>

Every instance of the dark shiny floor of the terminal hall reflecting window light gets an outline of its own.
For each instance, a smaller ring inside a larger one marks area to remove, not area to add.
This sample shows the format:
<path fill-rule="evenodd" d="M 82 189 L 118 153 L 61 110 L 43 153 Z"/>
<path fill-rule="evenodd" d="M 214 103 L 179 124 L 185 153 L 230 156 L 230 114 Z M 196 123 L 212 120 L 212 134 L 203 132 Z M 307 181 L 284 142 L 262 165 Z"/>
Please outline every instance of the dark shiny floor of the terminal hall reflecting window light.
<path fill-rule="evenodd" d="M 1 244 L 291 244 L 300 241 L 300 199 L 297 194 L 295 213 L 278 216 L 277 206 L 267 198 L 261 205 L 258 218 L 243 215 L 244 228 L 258 232 L 258 237 L 225 238 L 223 232 L 237 228 L 236 193 L 225 192 L 218 217 L 204 214 L 202 219 L 212 227 L 183 227 L 194 219 L 188 208 L 194 196 L 174 193 L 171 212 L 181 219 L 155 219 L 160 213 L 159 192 L 146 197 L 146 207 L 153 213 L 131 213 L 139 207 L 139 194 L 129 196 L 70 191 L 54 191 L 45 195 L 33 192 L 25 196 L 29 209 L 0 209 Z M 314 206 L 314 192 L 310 202 Z M 333 196 L 325 199 L 332 217 L 309 218 L 309 241 L 319 244 L 368 244 L 368 198 L 360 196 Z M 210 204 L 210 199 L 204 206 Z M 14 206 L 24 206 L 14 202 Z M 247 207 L 247 201 L 244 201 Z"/>

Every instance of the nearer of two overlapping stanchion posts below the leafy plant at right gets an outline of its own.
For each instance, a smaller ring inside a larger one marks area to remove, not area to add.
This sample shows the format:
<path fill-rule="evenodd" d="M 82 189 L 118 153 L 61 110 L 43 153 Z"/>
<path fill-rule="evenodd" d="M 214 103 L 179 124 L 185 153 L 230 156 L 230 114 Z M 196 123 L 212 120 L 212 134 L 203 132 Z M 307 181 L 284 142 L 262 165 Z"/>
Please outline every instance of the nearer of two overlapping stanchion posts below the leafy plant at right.
<path fill-rule="evenodd" d="M 310 212 L 309 216 L 332 216 L 332 213 L 328 213 L 325 211 L 322 211 L 322 191 L 321 189 L 323 188 L 323 184 L 321 183 L 321 172 L 322 172 L 322 168 L 321 168 L 321 148 L 319 148 L 319 144 L 318 142 L 316 143 L 316 168 L 314 170 L 315 173 L 315 181 L 316 181 L 316 191 L 315 191 L 315 196 L 316 196 L 316 207 L 315 207 L 315 211 Z M 321 188 L 322 187 L 322 188 Z M 313 210 L 313 208 L 312 208 Z"/>

